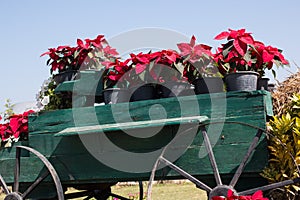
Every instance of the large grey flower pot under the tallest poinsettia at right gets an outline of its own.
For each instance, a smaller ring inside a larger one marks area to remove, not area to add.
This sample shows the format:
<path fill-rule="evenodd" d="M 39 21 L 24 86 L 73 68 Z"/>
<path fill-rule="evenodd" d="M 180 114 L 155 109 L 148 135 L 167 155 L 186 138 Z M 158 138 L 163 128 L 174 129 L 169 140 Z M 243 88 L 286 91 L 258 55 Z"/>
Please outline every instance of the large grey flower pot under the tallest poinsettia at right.
<path fill-rule="evenodd" d="M 227 91 L 253 91 L 257 89 L 259 74 L 252 71 L 241 71 L 227 74 L 224 81 Z"/>

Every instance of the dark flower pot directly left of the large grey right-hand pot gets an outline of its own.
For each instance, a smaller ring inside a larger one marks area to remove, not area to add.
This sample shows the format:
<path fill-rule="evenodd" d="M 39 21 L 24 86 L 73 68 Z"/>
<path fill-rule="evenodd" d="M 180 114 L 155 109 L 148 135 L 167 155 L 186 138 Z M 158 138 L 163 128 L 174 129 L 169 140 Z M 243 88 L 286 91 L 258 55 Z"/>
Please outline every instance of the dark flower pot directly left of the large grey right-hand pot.
<path fill-rule="evenodd" d="M 224 82 L 220 77 L 203 77 L 193 82 L 195 94 L 224 92 Z"/>

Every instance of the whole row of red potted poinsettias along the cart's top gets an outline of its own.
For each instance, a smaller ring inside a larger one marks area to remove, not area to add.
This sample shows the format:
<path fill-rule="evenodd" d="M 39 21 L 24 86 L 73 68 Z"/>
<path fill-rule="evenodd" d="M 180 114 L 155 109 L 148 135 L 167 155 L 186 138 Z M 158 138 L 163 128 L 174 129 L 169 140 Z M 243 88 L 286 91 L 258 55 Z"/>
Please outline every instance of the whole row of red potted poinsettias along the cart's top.
<path fill-rule="evenodd" d="M 229 29 L 215 39 L 227 40 L 215 53 L 208 45 L 196 44 L 192 36 L 189 43 L 177 44 L 179 51 L 131 53 L 123 60 L 99 35 L 78 39 L 76 47 L 49 48 L 42 56 L 50 57 L 47 64 L 54 76 L 73 70 L 100 71 L 107 103 L 223 92 L 224 86 L 227 91 L 261 89 L 266 70 L 275 76 L 274 65 L 289 64 L 281 50 L 254 40 L 245 29 Z"/>

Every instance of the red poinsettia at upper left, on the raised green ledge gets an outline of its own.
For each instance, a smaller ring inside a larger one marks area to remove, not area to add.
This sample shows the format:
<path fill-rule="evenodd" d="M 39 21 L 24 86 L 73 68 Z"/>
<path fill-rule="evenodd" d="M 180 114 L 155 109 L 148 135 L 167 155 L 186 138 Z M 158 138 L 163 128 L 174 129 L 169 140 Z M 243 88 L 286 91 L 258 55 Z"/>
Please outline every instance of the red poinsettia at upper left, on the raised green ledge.
<path fill-rule="evenodd" d="M 98 35 L 95 39 L 77 39 L 77 46 L 68 45 L 49 48 L 49 51 L 41 56 L 48 55 L 47 65 L 50 65 L 50 73 L 61 73 L 69 70 L 99 69 L 102 62 L 113 61 L 118 52 L 112 48 L 104 35 Z"/>

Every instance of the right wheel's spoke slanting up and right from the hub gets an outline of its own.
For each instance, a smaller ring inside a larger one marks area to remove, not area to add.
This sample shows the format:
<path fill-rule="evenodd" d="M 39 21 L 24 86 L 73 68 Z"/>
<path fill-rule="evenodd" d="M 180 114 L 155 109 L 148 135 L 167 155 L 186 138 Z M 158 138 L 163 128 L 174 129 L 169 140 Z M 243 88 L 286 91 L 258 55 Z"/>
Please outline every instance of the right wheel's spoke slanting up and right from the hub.
<path fill-rule="evenodd" d="M 234 176 L 233 176 L 233 178 L 232 178 L 229 186 L 234 187 L 235 184 L 237 183 L 239 177 L 241 176 L 241 174 L 242 174 L 242 172 L 243 172 L 243 170 L 244 170 L 244 168 L 246 166 L 246 163 L 247 163 L 249 157 L 251 156 L 253 150 L 255 149 L 255 147 L 256 147 L 259 139 L 260 139 L 260 137 L 262 136 L 262 133 L 263 133 L 263 131 L 261 129 L 259 129 L 257 131 L 255 137 L 253 138 L 253 141 L 252 141 L 251 145 L 249 146 L 249 149 L 248 149 L 245 157 L 243 158 L 243 160 L 242 160 L 239 168 L 236 170 L 236 172 L 235 172 L 235 174 L 234 174 Z"/>

